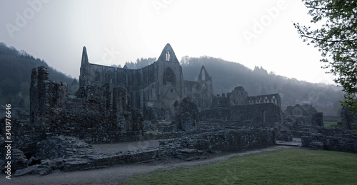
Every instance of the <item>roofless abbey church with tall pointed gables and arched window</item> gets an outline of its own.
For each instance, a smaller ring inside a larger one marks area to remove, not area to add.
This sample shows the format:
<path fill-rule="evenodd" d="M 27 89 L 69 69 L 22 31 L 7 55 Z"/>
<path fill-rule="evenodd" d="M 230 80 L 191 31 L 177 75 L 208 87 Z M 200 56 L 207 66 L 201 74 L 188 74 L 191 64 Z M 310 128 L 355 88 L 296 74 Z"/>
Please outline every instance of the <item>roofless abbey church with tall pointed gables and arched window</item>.
<path fill-rule="evenodd" d="M 184 97 L 198 106 L 211 107 L 212 77 L 202 66 L 197 81 L 183 80 L 182 67 L 175 52 L 166 44 L 158 60 L 141 69 L 109 67 L 89 63 L 83 48 L 79 85 L 105 85 L 127 90 L 128 105 L 143 112 L 146 119 L 172 120 Z"/>

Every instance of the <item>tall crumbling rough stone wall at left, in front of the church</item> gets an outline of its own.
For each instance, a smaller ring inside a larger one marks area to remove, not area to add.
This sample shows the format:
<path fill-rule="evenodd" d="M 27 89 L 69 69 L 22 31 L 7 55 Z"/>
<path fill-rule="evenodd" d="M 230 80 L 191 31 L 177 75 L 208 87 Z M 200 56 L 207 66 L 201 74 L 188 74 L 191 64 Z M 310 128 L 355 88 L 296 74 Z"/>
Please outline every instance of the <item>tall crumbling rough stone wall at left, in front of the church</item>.
<path fill-rule="evenodd" d="M 41 139 L 66 135 L 102 143 L 142 137 L 144 118 L 126 104 L 125 88 L 81 86 L 74 96 L 67 95 L 66 87 L 65 83 L 49 81 L 46 68 L 33 70 L 30 124 Z"/>

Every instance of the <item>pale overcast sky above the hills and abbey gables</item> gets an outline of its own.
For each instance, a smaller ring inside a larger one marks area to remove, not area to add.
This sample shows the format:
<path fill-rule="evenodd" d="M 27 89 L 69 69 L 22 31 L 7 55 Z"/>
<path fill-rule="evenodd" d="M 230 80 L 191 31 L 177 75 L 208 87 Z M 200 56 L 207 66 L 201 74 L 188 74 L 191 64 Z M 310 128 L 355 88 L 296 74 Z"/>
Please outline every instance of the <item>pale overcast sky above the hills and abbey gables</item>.
<path fill-rule="evenodd" d="M 310 22 L 307 12 L 300 0 L 1 0 L 0 41 L 77 79 L 83 46 L 90 63 L 124 66 L 170 43 L 178 60 L 212 56 L 333 83 L 293 27 Z"/>

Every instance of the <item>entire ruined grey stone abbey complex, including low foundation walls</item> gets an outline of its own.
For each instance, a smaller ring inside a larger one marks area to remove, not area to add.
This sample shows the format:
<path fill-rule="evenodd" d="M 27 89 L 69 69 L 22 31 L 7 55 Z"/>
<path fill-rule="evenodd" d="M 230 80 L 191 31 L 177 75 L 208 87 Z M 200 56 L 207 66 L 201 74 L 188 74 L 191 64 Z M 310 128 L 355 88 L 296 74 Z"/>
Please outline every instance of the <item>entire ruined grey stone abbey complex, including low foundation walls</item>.
<path fill-rule="evenodd" d="M 206 68 L 198 73 L 196 81 L 184 80 L 169 44 L 156 62 L 140 69 L 89 63 L 84 47 L 74 95 L 66 83 L 49 80 L 46 68 L 33 69 L 29 119 L 14 120 L 11 129 L 13 172 L 44 175 L 173 157 L 203 159 L 292 142 L 293 137 L 301 138 L 303 147 L 357 152 L 356 134 L 323 127 L 323 114 L 312 106 L 281 110 L 278 93 L 249 96 L 238 84 L 214 95 Z M 164 141 L 112 154 L 91 146 L 152 139 Z"/>

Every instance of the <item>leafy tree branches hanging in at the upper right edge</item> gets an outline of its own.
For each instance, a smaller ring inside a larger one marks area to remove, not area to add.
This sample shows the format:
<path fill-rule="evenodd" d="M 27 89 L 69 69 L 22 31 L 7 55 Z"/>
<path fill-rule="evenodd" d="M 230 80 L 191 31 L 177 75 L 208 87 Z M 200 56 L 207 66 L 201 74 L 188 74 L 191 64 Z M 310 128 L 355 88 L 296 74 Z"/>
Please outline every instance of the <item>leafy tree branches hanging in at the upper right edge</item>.
<path fill-rule="evenodd" d="M 342 106 L 357 112 L 357 0 L 303 0 L 319 28 L 294 23 L 303 41 L 321 51 L 322 68 L 336 76 L 345 92 Z"/>

